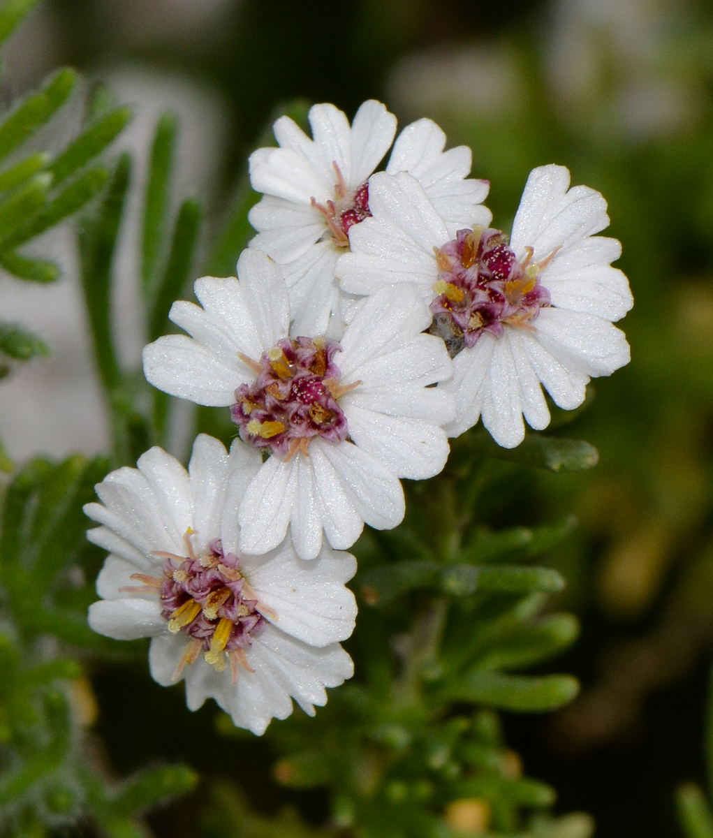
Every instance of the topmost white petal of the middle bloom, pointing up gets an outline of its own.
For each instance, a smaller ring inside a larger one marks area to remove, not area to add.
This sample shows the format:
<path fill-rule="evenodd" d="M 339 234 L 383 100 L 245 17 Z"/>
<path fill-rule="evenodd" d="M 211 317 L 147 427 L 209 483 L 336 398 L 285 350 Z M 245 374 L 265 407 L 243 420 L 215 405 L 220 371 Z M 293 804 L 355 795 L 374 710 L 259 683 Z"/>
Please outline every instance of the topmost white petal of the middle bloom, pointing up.
<path fill-rule="evenodd" d="M 282 272 L 266 253 L 246 248 L 238 260 L 238 277 L 251 300 L 251 314 L 266 352 L 287 337 L 290 328 L 290 301 Z"/>

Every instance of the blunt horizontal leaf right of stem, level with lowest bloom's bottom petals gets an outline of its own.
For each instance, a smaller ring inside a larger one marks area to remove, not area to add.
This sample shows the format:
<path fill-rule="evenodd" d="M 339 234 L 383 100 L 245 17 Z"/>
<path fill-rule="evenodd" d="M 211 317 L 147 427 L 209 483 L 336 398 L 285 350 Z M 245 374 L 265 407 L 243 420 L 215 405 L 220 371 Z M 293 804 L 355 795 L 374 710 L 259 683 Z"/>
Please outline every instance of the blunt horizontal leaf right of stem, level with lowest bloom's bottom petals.
<path fill-rule="evenodd" d="M 444 686 L 439 698 L 531 713 L 556 710 L 572 701 L 578 691 L 579 683 L 571 675 L 529 677 L 476 670 Z"/>

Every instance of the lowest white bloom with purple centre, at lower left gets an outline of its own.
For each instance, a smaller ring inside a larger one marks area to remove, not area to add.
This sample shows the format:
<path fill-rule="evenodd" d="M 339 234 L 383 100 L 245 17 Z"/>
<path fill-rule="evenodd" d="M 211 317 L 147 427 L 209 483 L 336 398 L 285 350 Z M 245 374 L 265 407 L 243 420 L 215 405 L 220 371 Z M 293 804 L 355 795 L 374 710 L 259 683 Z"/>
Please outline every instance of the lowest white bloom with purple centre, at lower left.
<path fill-rule="evenodd" d="M 260 735 L 271 718 L 309 715 L 325 687 L 354 672 L 339 645 L 354 630 L 349 553 L 324 546 L 301 561 L 287 538 L 264 556 L 240 552 L 235 508 L 261 456 L 235 440 L 230 456 L 202 434 L 189 470 L 163 449 L 142 454 L 98 484 L 101 504 L 85 513 L 101 526 L 90 541 L 110 552 L 90 606 L 92 629 L 107 637 L 150 637 L 154 680 L 185 680 L 197 710 L 212 697 L 238 727 Z M 291 698 L 292 696 L 292 698 Z"/>

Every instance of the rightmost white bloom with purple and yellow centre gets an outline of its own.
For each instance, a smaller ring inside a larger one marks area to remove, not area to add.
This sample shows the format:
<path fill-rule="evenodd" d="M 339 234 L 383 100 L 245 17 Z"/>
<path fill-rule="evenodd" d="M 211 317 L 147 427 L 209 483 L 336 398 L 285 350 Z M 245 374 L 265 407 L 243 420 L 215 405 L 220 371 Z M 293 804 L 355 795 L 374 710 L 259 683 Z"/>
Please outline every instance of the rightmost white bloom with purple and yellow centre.
<path fill-rule="evenodd" d="M 372 216 L 351 234 L 337 272 L 348 292 L 372 294 L 416 283 L 453 357 L 442 385 L 456 398 L 457 437 L 483 417 L 493 439 L 515 447 L 523 416 L 536 430 L 550 422 L 544 385 L 571 410 L 590 378 L 628 363 L 623 332 L 612 325 L 633 305 L 627 277 L 611 262 L 616 239 L 607 203 L 586 186 L 569 189 L 563 166 L 530 173 L 508 237 L 478 222 L 457 230 L 408 174 L 374 175 Z"/>

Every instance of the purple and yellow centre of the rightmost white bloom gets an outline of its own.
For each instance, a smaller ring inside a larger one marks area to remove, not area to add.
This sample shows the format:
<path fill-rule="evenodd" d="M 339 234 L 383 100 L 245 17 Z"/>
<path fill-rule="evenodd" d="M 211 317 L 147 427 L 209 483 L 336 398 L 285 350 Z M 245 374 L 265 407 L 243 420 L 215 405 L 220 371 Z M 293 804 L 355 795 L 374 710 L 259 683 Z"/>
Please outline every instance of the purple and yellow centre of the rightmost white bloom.
<path fill-rule="evenodd" d="M 540 308 L 550 305 L 550 292 L 540 284 L 549 260 L 532 262 L 527 248 L 528 256 L 518 261 L 501 230 L 458 230 L 455 239 L 433 250 L 439 271 L 431 311 L 451 354 L 463 344 L 474 346 L 483 332 L 499 338 L 505 324 L 534 328 Z"/>

